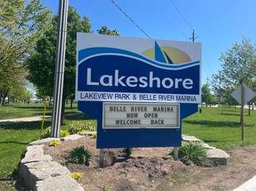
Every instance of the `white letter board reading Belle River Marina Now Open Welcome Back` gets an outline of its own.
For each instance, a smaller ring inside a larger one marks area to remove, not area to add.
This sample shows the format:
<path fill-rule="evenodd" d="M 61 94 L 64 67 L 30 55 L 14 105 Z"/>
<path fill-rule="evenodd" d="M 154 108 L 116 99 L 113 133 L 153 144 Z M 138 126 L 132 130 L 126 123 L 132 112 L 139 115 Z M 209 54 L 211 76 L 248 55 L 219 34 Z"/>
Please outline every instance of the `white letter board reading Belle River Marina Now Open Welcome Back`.
<path fill-rule="evenodd" d="M 103 129 L 180 128 L 178 104 L 104 103 Z"/>

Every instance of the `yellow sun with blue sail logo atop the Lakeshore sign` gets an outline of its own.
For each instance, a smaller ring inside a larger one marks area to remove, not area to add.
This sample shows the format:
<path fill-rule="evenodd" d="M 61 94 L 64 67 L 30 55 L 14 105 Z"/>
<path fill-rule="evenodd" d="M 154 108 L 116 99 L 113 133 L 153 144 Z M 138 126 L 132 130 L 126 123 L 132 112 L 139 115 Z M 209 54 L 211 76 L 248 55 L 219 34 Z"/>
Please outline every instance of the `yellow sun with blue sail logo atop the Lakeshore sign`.
<path fill-rule="evenodd" d="M 175 47 L 160 47 L 157 42 L 155 42 L 155 47 L 142 52 L 142 54 L 153 60 L 172 65 L 191 61 L 191 58 L 182 50 Z"/>

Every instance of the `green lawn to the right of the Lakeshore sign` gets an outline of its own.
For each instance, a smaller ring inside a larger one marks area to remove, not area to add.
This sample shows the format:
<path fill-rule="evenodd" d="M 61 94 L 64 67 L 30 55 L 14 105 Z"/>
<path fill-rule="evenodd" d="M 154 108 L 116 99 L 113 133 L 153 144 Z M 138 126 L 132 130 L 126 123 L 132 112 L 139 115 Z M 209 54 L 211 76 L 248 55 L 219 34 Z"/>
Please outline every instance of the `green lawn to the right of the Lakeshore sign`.
<path fill-rule="evenodd" d="M 182 133 L 196 136 L 211 146 L 229 150 L 241 146 L 240 109 L 203 108 L 203 113 L 195 113 L 185 118 Z M 245 112 L 245 144 L 256 144 L 256 111 L 248 116 Z"/>

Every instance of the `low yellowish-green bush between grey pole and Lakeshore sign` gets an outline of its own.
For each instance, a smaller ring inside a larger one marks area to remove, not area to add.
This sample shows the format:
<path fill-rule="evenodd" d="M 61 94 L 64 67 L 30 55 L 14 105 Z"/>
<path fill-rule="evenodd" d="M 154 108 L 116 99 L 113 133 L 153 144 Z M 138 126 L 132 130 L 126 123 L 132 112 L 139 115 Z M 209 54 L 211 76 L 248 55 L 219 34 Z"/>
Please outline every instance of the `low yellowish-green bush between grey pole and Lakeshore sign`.
<path fill-rule="evenodd" d="M 69 127 L 69 134 L 78 134 L 80 131 L 96 131 L 96 126 L 88 121 L 73 121 Z"/>

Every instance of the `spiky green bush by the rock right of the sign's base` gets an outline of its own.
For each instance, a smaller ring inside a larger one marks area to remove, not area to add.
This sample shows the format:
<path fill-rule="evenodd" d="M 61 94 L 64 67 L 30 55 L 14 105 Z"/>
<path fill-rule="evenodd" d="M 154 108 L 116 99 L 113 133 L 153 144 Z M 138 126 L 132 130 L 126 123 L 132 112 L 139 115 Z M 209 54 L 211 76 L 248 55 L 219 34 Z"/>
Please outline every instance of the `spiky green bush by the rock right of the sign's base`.
<path fill-rule="evenodd" d="M 189 142 L 179 148 L 179 158 L 185 163 L 202 164 L 206 159 L 206 154 L 206 148 L 200 143 Z"/>

